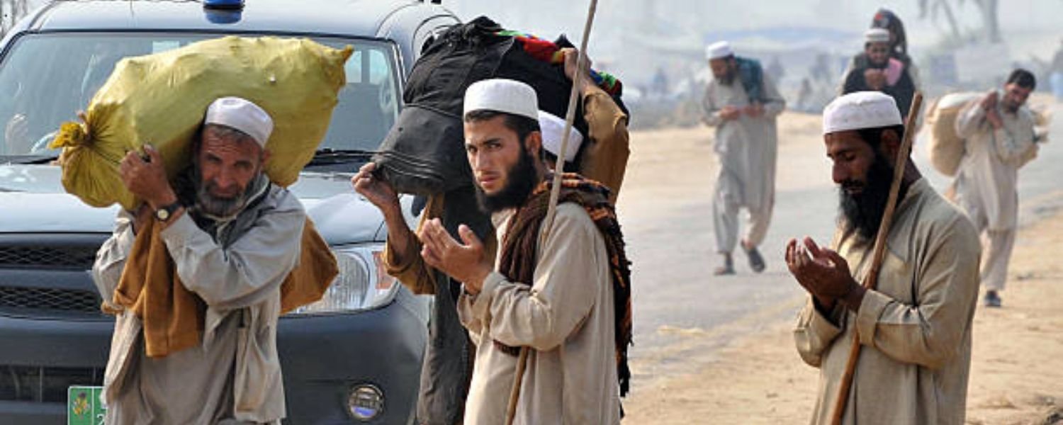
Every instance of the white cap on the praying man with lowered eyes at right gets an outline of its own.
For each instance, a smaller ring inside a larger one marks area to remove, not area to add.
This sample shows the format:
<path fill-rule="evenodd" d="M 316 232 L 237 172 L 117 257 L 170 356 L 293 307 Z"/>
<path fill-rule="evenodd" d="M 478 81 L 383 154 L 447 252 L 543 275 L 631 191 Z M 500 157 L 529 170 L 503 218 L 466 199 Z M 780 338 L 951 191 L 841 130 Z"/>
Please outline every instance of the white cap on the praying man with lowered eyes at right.
<path fill-rule="evenodd" d="M 897 102 L 881 91 L 857 91 L 838 99 L 823 109 L 823 134 L 849 130 L 900 125 Z"/>

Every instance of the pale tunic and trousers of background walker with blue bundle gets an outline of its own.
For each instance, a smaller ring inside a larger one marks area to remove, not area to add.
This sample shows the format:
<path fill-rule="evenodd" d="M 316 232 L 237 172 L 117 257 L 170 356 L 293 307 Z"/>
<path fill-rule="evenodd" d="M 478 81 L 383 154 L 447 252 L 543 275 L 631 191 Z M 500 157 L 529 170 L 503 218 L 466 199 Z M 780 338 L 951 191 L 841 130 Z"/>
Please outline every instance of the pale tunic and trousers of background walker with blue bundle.
<path fill-rule="evenodd" d="M 749 97 L 738 76 L 731 84 L 712 79 L 705 89 L 704 122 L 716 128 L 713 150 L 720 157 L 712 203 L 718 252 L 729 253 L 738 243 L 739 208 L 744 207 L 749 212 L 744 238 L 754 245 L 763 241 L 772 219 L 778 149 L 775 118 L 782 113 L 786 101 L 767 75 L 763 76 L 761 92 L 766 99 L 762 116 L 743 114 L 727 121 L 720 117 L 724 106 L 749 105 Z"/>

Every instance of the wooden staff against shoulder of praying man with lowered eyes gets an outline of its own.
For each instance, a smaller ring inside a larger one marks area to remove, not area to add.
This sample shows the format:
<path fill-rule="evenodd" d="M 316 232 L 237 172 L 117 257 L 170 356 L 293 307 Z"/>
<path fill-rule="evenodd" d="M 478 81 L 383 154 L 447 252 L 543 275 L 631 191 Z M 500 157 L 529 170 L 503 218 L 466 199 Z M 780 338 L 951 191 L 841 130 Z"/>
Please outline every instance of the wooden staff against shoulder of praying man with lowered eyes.
<path fill-rule="evenodd" d="M 875 236 L 871 271 L 864 276 L 863 287 L 866 289 L 875 289 L 875 286 L 878 285 L 878 272 L 882 268 L 882 259 L 885 257 L 885 239 L 890 235 L 890 226 L 893 225 L 893 210 L 897 206 L 897 197 L 900 193 L 900 181 L 905 176 L 908 156 L 912 150 L 915 119 L 922 106 L 923 92 L 916 91 L 915 96 L 912 97 L 912 107 L 908 109 L 908 118 L 905 120 L 905 137 L 900 140 L 900 150 L 897 151 L 897 160 L 893 167 L 893 183 L 890 185 L 890 198 L 885 204 L 885 214 L 882 216 L 882 222 L 878 226 L 878 235 Z M 849 400 L 849 389 L 853 387 L 853 374 L 857 370 L 857 359 L 860 357 L 860 335 L 854 328 L 849 358 L 845 363 L 845 374 L 842 375 L 842 382 L 838 388 L 838 400 L 834 402 L 834 411 L 830 420 L 830 423 L 833 425 L 841 425 L 842 423 L 842 414 L 845 413 L 845 404 Z"/>

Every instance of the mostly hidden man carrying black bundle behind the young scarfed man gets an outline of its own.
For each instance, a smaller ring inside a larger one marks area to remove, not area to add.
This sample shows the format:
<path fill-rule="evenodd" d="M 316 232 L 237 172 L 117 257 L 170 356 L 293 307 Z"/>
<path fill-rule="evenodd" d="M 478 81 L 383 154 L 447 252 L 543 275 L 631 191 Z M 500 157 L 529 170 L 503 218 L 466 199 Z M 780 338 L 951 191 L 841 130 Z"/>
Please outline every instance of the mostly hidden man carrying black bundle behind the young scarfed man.
<path fill-rule="evenodd" d="M 570 140 L 568 151 L 560 156 L 566 158 L 566 168 L 578 165 L 584 175 L 608 186 L 609 202 L 615 203 L 628 155 L 627 115 L 594 83 L 588 72 L 576 71 L 578 52 L 575 49 L 562 49 L 561 53 L 564 55 L 566 76 L 580 89 L 584 118 L 588 123 L 588 137 L 585 139 L 573 130 L 574 138 Z M 540 132 L 545 154 L 556 156 L 560 150 L 563 120 L 558 125 L 557 121 L 546 121 L 543 116 L 539 119 L 540 122 L 547 123 L 543 125 L 543 132 Z M 578 139 L 575 138 L 577 135 Z M 552 141 L 555 143 L 552 144 Z M 552 146 L 555 147 L 553 152 Z M 580 146 L 584 148 L 583 158 L 576 162 L 576 153 Z M 468 332 L 457 317 L 457 310 L 448 308 L 456 305 L 460 293 L 460 282 L 440 270 L 433 269 L 421 258 L 422 243 L 409 230 L 394 188 L 387 180 L 375 174 L 375 171 L 376 164 L 369 163 L 361 167 L 351 182 L 355 190 L 379 208 L 384 215 L 388 227 L 388 241 L 383 260 L 387 272 L 399 278 L 414 293 L 433 294 L 436 303 L 429 328 L 432 341 L 425 352 L 424 367 L 421 370 L 417 423 L 421 425 L 462 423 L 475 347 L 471 345 Z M 470 187 L 468 192 L 472 197 L 474 188 Z M 417 233 L 423 235 L 425 225 L 432 219 L 438 218 L 444 223 L 451 220 L 457 221 L 453 216 L 459 215 L 454 211 L 461 211 L 465 194 L 466 188 L 460 188 L 448 193 L 429 196 Z M 455 196 L 461 198 L 455 200 Z M 486 255 L 493 256 L 497 246 L 493 230 L 488 232 L 483 242 Z"/>

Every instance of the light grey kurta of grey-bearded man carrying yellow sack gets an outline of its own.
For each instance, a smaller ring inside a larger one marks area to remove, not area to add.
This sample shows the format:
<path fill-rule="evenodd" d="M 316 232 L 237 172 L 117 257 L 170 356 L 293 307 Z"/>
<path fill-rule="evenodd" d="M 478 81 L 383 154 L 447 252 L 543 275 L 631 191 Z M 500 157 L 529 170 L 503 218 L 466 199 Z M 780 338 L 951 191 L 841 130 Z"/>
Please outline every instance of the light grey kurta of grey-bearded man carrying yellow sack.
<path fill-rule="evenodd" d="M 202 343 L 149 358 L 140 320 L 120 312 L 104 377 L 108 424 L 280 423 L 280 288 L 299 261 L 305 222 L 299 200 L 274 186 L 219 237 L 188 214 L 161 233 L 185 287 L 207 304 Z M 92 267 L 104 300 L 114 296 L 133 239 L 121 212 Z"/>

